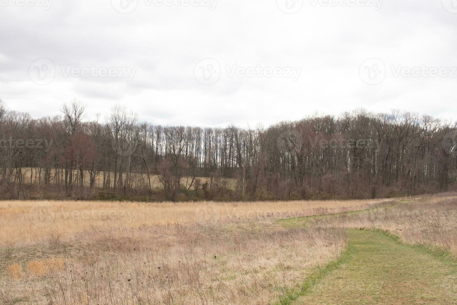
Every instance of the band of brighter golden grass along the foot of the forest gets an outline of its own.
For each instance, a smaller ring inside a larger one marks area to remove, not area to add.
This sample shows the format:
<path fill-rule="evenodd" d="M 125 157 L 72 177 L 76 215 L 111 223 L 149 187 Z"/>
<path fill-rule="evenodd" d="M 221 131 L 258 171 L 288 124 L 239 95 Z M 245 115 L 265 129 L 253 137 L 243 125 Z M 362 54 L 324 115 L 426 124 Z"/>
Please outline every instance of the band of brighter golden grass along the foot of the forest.
<path fill-rule="evenodd" d="M 85 231 L 151 225 L 215 225 L 368 209 L 391 199 L 283 202 L 136 203 L 96 201 L 2 201 L 0 246 L 43 243 L 53 236 L 73 241 Z"/>

